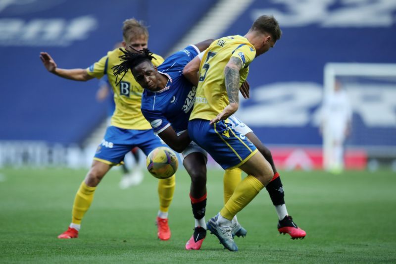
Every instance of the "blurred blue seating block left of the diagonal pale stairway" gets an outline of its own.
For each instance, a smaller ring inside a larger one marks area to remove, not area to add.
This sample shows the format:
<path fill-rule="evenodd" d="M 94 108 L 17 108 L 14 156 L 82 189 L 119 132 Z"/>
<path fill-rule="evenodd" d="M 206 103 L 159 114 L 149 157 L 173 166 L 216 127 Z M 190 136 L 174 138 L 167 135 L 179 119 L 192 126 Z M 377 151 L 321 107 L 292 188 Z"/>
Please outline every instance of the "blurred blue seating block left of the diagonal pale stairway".
<path fill-rule="evenodd" d="M 81 143 L 105 117 L 106 105 L 95 99 L 98 81 L 49 74 L 40 52 L 51 54 L 61 68 L 88 67 L 122 40 L 122 22 L 135 17 L 149 26 L 149 48 L 164 55 L 213 3 L 40 0 L 3 6 L 0 140 Z"/>

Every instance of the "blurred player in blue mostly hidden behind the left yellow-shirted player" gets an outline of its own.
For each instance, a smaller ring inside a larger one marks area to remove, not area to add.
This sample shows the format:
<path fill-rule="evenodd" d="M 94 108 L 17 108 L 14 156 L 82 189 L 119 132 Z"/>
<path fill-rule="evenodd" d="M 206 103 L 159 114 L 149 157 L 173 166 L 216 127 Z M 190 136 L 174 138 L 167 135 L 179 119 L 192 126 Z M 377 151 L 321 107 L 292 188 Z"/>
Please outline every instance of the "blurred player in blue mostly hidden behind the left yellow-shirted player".
<path fill-rule="evenodd" d="M 122 43 L 117 42 L 114 46 L 114 49 L 121 48 Z M 108 81 L 107 75 L 104 75 L 99 80 L 99 89 L 96 94 L 96 99 L 98 102 L 105 101 L 107 105 L 107 126 L 111 125 L 111 117 L 113 116 L 115 110 L 115 103 L 114 103 L 114 93 L 111 88 L 111 85 Z M 127 189 L 128 187 L 139 185 L 143 181 L 143 170 L 142 166 L 140 165 L 140 156 L 139 156 L 139 148 L 135 147 L 132 149 L 130 155 L 127 153 L 124 158 L 124 163 L 120 165 L 122 169 L 122 178 L 120 180 L 119 186 L 121 189 Z M 132 157 L 130 157 L 132 156 Z M 133 163 L 128 165 L 127 160 L 131 160 Z M 131 172 L 132 170 L 132 172 Z"/>

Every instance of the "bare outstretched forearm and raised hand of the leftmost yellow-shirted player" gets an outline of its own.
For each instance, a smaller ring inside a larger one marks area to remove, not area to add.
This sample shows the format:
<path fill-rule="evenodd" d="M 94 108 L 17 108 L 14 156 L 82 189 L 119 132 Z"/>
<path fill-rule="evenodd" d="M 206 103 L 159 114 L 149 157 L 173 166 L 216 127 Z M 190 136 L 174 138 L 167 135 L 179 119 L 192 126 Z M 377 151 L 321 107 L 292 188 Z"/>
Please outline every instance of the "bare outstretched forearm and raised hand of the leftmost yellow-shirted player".
<path fill-rule="evenodd" d="M 75 80 L 75 81 L 88 81 L 94 78 L 88 74 L 86 69 L 60 69 L 57 67 L 53 58 L 46 52 L 40 53 L 40 59 L 46 69 L 62 78 Z"/>

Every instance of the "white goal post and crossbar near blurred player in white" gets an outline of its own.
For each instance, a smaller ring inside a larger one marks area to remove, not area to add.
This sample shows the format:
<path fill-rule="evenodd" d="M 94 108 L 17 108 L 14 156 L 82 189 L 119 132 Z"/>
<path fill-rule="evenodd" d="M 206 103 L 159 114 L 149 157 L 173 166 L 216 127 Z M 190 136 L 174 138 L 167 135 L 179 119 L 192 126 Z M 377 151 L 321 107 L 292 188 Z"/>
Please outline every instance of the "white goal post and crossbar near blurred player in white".
<path fill-rule="evenodd" d="M 392 80 L 392 87 L 396 88 L 396 64 L 392 63 L 327 63 L 324 67 L 324 98 L 334 93 L 337 78 L 381 78 Z M 373 85 L 375 86 L 375 85 Z M 389 87 L 389 86 L 388 86 Z M 395 89 L 396 91 L 396 89 Z M 393 93 L 392 93 L 393 95 Z M 391 99 L 396 102 L 395 99 Z M 364 107 L 364 106 L 362 106 Z M 353 109 L 352 109 L 353 110 Z M 395 114 L 396 120 L 396 114 Z M 395 123 L 396 126 L 396 123 Z M 353 128 L 352 128 L 353 129 Z M 330 157 L 332 155 L 332 134 L 324 126 L 323 129 L 323 167 L 330 169 Z"/>

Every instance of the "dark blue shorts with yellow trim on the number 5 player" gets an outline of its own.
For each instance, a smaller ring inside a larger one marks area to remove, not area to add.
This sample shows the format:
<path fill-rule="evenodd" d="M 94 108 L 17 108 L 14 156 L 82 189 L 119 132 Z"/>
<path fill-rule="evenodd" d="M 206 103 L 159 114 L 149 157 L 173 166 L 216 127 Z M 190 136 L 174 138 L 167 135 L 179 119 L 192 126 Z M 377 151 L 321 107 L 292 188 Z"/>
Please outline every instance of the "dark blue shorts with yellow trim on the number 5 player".
<path fill-rule="evenodd" d="M 209 125 L 209 120 L 193 119 L 188 130 L 190 138 L 223 169 L 239 167 L 257 152 L 253 143 L 235 131 L 227 120 Z"/>

